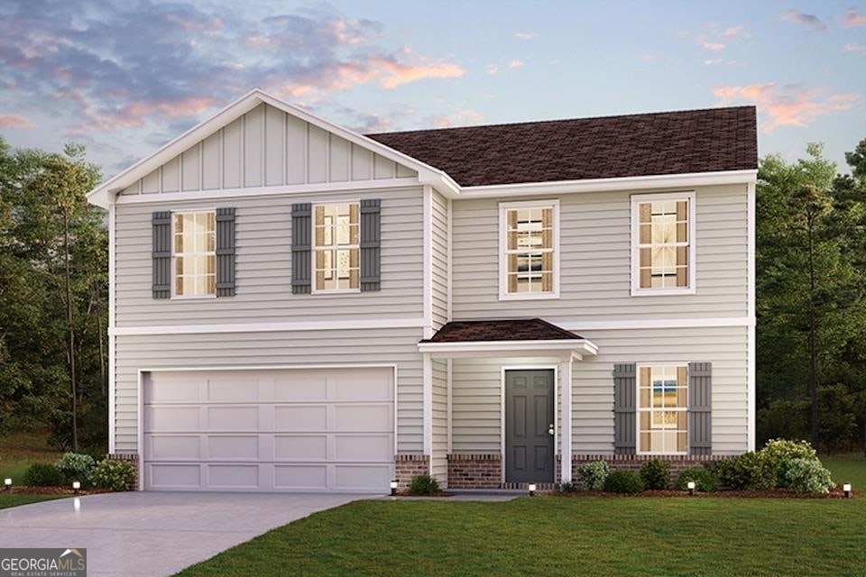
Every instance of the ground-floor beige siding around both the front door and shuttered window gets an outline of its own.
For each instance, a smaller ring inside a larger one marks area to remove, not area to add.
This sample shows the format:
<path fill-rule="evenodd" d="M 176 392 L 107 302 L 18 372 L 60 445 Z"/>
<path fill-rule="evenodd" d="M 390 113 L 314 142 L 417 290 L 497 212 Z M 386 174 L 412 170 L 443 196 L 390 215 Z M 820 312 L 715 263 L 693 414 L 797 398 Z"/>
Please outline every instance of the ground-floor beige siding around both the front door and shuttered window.
<path fill-rule="evenodd" d="M 598 345 L 599 354 L 574 362 L 572 451 L 613 453 L 613 365 L 621 362 L 712 362 L 713 453 L 747 451 L 746 332 L 744 326 L 581 331 Z M 556 362 L 547 361 L 455 359 L 451 380 L 453 452 L 499 453 L 502 366 Z M 561 404 L 557 407 L 561 409 Z"/>

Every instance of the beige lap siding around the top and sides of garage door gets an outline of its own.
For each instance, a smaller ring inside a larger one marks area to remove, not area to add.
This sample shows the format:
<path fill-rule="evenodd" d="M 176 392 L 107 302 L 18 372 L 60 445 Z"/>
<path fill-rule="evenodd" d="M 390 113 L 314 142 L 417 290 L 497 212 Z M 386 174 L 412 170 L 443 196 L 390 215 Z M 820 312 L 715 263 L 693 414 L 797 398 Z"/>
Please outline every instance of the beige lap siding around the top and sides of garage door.
<path fill-rule="evenodd" d="M 420 328 L 115 337 L 115 450 L 138 453 L 138 371 L 396 365 L 398 451 L 421 453 Z"/>

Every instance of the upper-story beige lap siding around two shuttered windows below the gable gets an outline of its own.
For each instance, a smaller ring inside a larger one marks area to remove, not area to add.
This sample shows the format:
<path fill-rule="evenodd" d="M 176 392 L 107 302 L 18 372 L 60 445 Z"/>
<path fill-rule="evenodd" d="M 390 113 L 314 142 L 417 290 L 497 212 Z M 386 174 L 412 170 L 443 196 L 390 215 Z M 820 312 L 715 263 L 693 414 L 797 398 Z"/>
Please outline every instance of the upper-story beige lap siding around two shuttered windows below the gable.
<path fill-rule="evenodd" d="M 235 207 L 235 296 L 152 298 L 150 203 L 115 206 L 115 325 L 278 323 L 423 315 L 420 187 L 160 203 L 159 210 Z M 291 294 L 291 205 L 375 197 L 382 200 L 382 289 Z"/>

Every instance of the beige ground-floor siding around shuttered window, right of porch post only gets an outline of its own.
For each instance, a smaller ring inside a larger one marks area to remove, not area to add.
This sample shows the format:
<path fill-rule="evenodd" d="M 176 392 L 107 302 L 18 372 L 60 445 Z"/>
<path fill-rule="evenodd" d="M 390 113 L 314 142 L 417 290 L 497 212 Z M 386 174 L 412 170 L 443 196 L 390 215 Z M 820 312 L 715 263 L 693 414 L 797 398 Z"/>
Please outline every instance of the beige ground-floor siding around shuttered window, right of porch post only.
<path fill-rule="evenodd" d="M 573 450 L 613 453 L 613 365 L 713 363 L 713 453 L 748 449 L 746 327 L 585 331 L 597 357 L 575 362 Z"/>

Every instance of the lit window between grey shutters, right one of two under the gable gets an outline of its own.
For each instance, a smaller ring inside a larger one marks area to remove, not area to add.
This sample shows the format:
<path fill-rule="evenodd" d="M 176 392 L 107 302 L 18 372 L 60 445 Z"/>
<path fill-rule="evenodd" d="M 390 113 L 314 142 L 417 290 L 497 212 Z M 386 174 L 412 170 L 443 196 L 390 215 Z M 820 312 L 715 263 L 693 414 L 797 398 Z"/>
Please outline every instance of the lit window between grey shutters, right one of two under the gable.
<path fill-rule="evenodd" d="M 358 203 L 315 207 L 316 291 L 360 289 Z"/>

